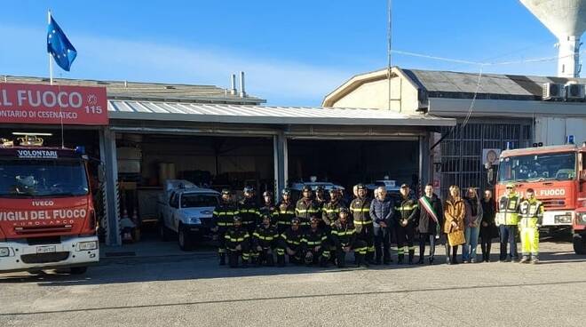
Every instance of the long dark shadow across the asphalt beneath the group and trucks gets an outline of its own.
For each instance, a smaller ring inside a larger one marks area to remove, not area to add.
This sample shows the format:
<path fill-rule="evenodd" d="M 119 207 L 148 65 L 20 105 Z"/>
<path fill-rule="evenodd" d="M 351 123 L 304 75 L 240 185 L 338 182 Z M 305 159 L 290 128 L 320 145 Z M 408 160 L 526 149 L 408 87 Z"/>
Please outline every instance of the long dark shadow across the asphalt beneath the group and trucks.
<path fill-rule="evenodd" d="M 548 242 L 558 244 L 558 242 Z M 520 245 L 520 244 L 519 244 Z M 557 246 L 556 246 L 557 247 Z M 480 265 L 500 265 L 498 261 L 498 243 L 494 243 L 491 255 L 491 263 L 460 264 L 454 266 L 445 265 L 446 257 L 443 255 L 443 245 L 436 247 L 435 265 L 427 264 L 427 257 L 424 265 L 397 265 L 396 248 L 393 249 L 393 262 L 391 265 L 371 266 L 366 268 L 352 267 L 352 257 L 348 259 L 348 267 L 339 269 L 330 265 L 328 268 L 292 266 L 287 267 L 248 267 L 229 268 L 219 267 L 218 258 L 212 243 L 202 243 L 197 251 L 180 251 L 177 243 L 146 241 L 125 245 L 123 247 L 104 247 L 101 254 L 100 264 L 97 267 L 90 267 L 85 275 L 69 275 L 58 272 L 47 272 L 39 275 L 30 275 L 26 272 L 12 273 L 0 276 L 2 283 L 38 283 L 42 286 L 68 286 L 80 284 L 110 284 L 110 283 L 145 283 L 191 279 L 214 279 L 248 276 L 270 276 L 270 275 L 299 275 L 299 274 L 321 274 L 321 273 L 342 273 L 353 270 L 395 270 L 395 269 L 469 269 Z M 561 251 L 546 251 L 540 254 L 540 264 L 555 265 L 566 263 L 586 262 L 586 256 L 574 254 L 564 247 Z M 429 251 L 429 250 L 428 250 Z M 426 251 L 426 254 L 428 253 Z M 462 262 L 462 249 L 458 251 L 458 261 Z M 116 254 L 132 253 L 130 256 L 117 256 Z M 480 251 L 478 251 L 480 257 Z M 406 258 L 407 259 L 407 258 Z M 416 258 L 418 260 L 418 250 Z M 511 265 L 511 263 L 509 264 Z"/>

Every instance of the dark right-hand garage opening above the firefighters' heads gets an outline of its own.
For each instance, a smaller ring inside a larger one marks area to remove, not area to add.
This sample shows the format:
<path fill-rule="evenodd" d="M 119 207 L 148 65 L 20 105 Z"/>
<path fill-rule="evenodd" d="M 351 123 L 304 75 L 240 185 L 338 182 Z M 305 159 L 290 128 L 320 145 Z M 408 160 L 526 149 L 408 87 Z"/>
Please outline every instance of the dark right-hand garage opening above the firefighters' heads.
<path fill-rule="evenodd" d="M 289 140 L 289 182 L 316 176 L 343 187 L 377 179 L 415 184 L 419 171 L 416 140 Z"/>

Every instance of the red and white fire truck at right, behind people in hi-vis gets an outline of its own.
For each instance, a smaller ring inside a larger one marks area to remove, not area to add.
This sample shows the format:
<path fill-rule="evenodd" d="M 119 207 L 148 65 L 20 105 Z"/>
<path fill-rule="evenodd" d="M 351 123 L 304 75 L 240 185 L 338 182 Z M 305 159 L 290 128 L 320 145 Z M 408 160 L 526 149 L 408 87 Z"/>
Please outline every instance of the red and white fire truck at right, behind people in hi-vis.
<path fill-rule="evenodd" d="M 513 183 L 523 196 L 535 189 L 545 212 L 542 227 L 573 227 L 574 251 L 586 253 L 586 145 L 519 148 L 501 153 L 496 198 Z"/>

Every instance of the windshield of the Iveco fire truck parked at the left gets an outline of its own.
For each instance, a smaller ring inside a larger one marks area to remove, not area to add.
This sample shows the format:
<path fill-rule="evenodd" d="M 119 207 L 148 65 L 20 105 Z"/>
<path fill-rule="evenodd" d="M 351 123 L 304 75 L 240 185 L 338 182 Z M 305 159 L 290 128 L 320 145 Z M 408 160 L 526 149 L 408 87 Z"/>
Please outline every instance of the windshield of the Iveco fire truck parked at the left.
<path fill-rule="evenodd" d="M 0 197 L 75 196 L 88 192 L 82 160 L 0 159 Z"/>

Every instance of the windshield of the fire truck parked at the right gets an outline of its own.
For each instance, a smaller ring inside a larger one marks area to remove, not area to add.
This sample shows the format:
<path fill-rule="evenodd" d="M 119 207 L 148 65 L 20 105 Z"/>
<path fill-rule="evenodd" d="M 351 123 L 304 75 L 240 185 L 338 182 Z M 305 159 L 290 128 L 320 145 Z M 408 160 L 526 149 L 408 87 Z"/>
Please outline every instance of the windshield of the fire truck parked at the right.
<path fill-rule="evenodd" d="M 498 180 L 500 182 L 571 180 L 576 177 L 575 167 L 574 153 L 508 156 L 501 159 Z"/>

